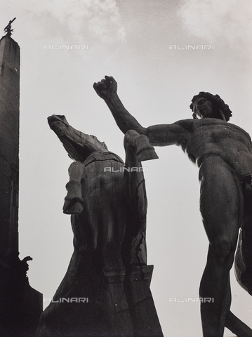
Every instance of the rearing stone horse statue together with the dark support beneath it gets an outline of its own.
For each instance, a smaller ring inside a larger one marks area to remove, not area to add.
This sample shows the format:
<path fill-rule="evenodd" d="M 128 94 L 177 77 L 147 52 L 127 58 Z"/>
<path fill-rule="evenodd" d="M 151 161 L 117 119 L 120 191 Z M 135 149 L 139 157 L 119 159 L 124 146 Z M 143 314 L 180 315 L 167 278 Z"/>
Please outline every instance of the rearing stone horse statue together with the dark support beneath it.
<path fill-rule="evenodd" d="M 36 336 L 163 336 L 150 293 L 152 266 L 146 265 L 147 199 L 137 152 L 147 150 L 150 159 L 157 154 L 132 131 L 124 140 L 124 165 L 65 117 L 53 115 L 48 122 L 76 160 L 64 204 L 64 212 L 73 213 L 74 253 Z"/>

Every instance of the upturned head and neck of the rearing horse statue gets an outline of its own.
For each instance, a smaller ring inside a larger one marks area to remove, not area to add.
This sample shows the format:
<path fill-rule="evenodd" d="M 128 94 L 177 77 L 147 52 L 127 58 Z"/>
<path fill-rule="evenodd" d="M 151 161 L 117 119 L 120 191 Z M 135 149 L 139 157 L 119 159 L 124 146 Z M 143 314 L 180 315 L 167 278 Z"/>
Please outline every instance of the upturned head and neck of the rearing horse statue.
<path fill-rule="evenodd" d="M 70 158 L 81 163 L 93 152 L 107 152 L 107 145 L 98 138 L 72 128 L 65 116 L 53 114 L 48 117 L 50 128 L 62 142 Z"/>

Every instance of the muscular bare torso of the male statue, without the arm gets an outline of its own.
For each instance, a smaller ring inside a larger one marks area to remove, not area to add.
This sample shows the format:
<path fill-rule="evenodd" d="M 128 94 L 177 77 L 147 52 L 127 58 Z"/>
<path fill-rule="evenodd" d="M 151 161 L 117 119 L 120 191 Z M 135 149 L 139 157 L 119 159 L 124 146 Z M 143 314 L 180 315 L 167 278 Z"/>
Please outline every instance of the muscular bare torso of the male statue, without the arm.
<path fill-rule="evenodd" d="M 179 123 L 187 130 L 185 152 L 198 166 L 204 158 L 218 156 L 237 173 L 252 177 L 251 138 L 242 128 L 211 118 Z"/>

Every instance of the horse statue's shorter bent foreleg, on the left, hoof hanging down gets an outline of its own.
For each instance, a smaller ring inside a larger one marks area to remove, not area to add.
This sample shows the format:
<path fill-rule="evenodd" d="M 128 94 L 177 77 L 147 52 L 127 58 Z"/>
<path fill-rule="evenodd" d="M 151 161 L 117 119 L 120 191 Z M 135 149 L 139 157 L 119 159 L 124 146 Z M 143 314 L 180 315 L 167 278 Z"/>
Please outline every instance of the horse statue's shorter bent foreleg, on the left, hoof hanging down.
<path fill-rule="evenodd" d="M 79 215 L 83 211 L 84 200 L 81 195 L 81 177 L 84 169 L 85 166 L 79 161 L 74 161 L 69 166 L 69 182 L 66 185 L 67 196 L 63 206 L 63 212 L 66 214 Z"/>

